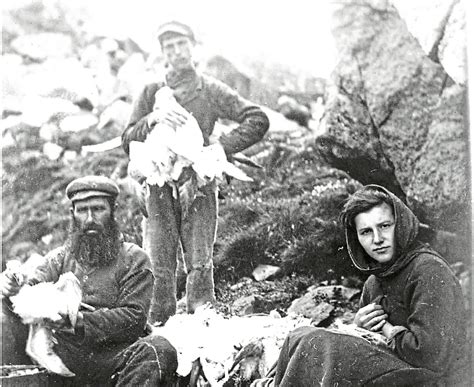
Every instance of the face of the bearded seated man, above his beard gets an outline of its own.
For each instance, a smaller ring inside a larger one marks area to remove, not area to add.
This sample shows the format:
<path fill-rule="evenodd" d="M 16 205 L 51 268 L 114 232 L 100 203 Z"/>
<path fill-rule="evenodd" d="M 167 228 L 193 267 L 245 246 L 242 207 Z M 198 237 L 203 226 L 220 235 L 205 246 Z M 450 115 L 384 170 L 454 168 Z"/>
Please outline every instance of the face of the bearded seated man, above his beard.
<path fill-rule="evenodd" d="M 103 197 L 91 197 L 74 204 L 73 216 L 79 229 L 88 236 L 96 236 L 105 230 L 112 209 Z"/>

